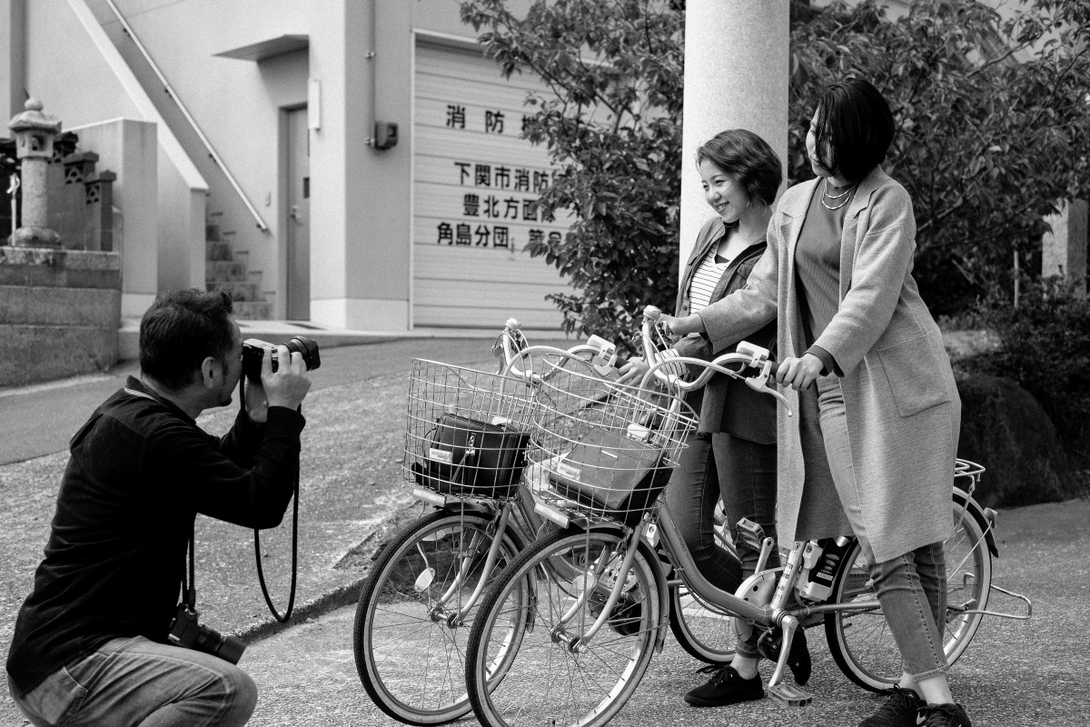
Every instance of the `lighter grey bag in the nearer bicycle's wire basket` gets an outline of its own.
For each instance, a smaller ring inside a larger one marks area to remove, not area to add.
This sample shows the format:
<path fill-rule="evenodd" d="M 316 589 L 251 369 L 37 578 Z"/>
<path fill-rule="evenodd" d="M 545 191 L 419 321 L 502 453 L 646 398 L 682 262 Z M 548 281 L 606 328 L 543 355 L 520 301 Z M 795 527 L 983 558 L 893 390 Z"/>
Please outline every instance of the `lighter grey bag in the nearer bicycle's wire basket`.
<path fill-rule="evenodd" d="M 557 493 L 596 510 L 639 517 L 670 478 L 664 450 L 595 427 L 549 472 Z"/>

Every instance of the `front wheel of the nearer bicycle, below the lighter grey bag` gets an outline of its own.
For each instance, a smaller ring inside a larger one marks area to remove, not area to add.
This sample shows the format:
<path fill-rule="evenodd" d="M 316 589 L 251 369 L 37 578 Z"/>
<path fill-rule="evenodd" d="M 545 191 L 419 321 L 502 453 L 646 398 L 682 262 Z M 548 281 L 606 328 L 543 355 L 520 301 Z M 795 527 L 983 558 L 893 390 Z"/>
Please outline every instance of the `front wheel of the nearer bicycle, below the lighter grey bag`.
<path fill-rule="evenodd" d="M 651 663 L 658 626 L 661 572 L 650 550 L 635 554 L 602 630 L 578 650 L 570 645 L 601 614 L 623 547 L 617 532 L 555 533 L 504 572 L 470 632 L 465 680 L 482 724 L 592 727 L 620 711 Z M 581 569 L 569 579 L 555 562 Z M 591 596 L 576 608 L 584 589 Z"/>

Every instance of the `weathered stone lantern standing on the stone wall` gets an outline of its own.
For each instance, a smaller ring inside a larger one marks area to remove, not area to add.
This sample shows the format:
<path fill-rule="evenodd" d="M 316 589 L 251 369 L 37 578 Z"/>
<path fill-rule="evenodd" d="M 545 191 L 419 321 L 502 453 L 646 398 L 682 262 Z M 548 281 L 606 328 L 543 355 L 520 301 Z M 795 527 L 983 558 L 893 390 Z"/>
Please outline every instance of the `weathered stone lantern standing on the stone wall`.
<path fill-rule="evenodd" d="M 15 156 L 22 160 L 22 226 L 11 235 L 17 247 L 60 247 L 61 237 L 48 225 L 46 171 L 53 158 L 53 140 L 60 134 L 61 120 L 43 113 L 41 101 L 26 99 L 26 110 L 8 124 L 15 135 Z M 12 220 L 14 221 L 14 220 Z"/>

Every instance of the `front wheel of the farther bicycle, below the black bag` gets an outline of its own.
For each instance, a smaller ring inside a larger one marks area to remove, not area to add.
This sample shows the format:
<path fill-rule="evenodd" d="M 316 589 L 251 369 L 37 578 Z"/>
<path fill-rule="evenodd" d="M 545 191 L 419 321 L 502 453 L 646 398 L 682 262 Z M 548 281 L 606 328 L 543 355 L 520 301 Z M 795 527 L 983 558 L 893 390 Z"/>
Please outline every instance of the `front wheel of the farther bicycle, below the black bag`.
<path fill-rule="evenodd" d="M 446 616 L 458 613 L 481 580 L 491 522 L 480 512 L 425 516 L 383 549 L 364 582 L 355 666 L 372 701 L 395 719 L 436 725 L 471 708 L 463 676 L 470 623 L 450 627 Z M 513 530 L 504 533 L 489 582 L 521 549 Z"/>

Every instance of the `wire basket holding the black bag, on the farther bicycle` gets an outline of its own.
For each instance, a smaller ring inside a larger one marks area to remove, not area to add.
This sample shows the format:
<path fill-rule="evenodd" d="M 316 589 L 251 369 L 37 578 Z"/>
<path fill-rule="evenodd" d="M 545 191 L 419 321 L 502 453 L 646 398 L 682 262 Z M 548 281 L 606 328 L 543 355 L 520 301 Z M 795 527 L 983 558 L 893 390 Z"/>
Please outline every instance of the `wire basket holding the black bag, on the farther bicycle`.
<path fill-rule="evenodd" d="M 533 429 L 530 383 L 413 360 L 405 420 L 405 478 L 441 494 L 516 495 Z"/>

